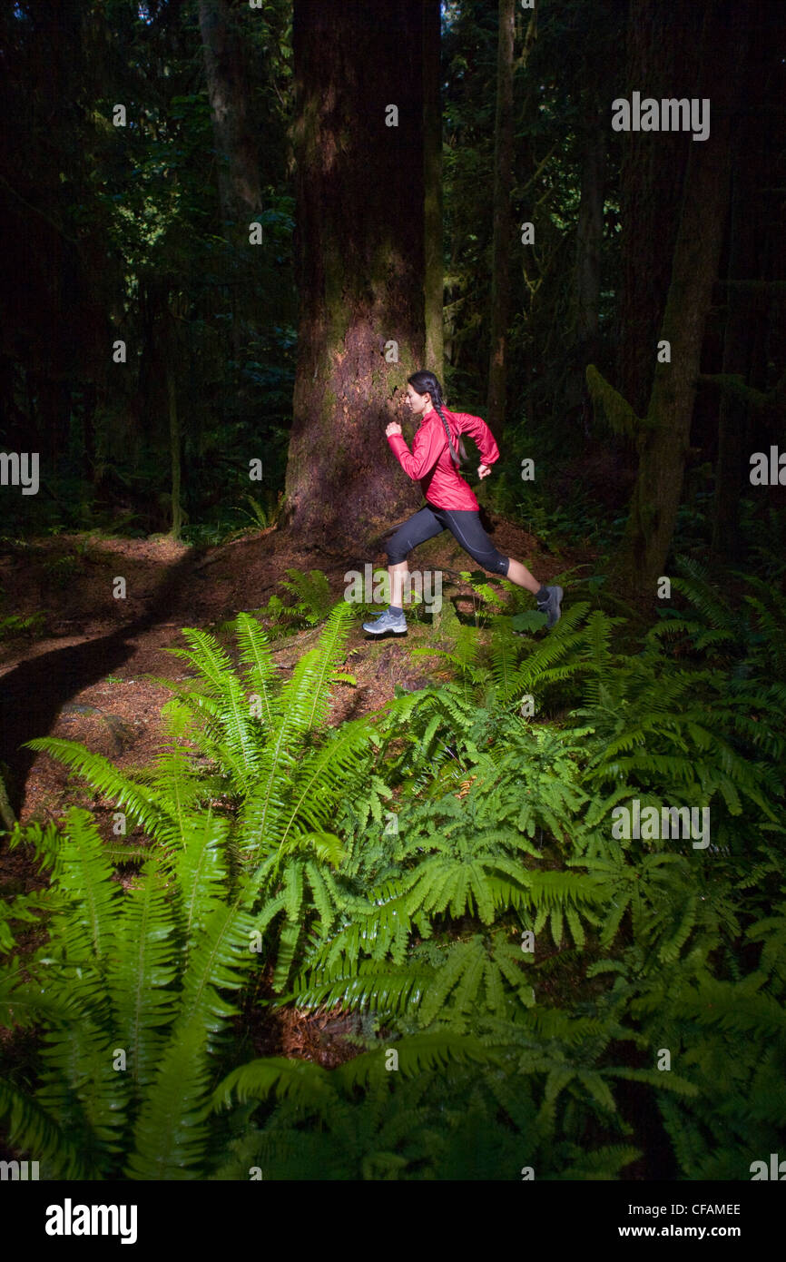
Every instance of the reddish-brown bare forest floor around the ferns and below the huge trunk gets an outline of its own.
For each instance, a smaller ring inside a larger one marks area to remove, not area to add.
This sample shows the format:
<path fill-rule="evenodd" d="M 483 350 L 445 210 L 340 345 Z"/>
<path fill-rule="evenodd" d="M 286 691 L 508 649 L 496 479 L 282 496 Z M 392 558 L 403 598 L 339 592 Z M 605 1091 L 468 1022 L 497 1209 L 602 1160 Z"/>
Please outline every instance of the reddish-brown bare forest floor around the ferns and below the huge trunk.
<path fill-rule="evenodd" d="M 544 583 L 593 559 L 585 550 L 544 550 L 532 535 L 500 517 L 495 517 L 493 541 Z M 452 535 L 443 533 L 415 555 L 413 569 L 442 568 L 443 599 L 472 615 L 471 588 L 453 575 L 477 565 Z M 279 584 L 290 568 L 323 570 L 339 601 L 347 587 L 344 574 L 353 569 L 362 574 L 370 560 L 375 568 L 385 565 L 381 551 L 328 555 L 307 550 L 275 529 L 207 549 L 169 536 L 57 535 L 6 544 L 0 553 L 0 764 L 20 823 L 44 824 L 61 819 L 71 805 L 87 806 L 109 839 L 114 804 L 86 790 L 48 755 L 21 751 L 23 742 L 66 737 L 122 770 L 149 765 L 164 741 L 160 711 L 170 699 L 156 676 L 184 678 L 182 659 L 167 651 L 184 646 L 182 627 L 216 632 L 240 611 L 259 610 L 274 593 L 284 596 Z M 125 579 L 125 598 L 114 596 L 119 578 Z M 19 626 L 11 618 L 35 621 L 26 632 L 9 635 Z M 344 659 L 357 684 L 336 687 L 331 723 L 377 711 L 396 684 L 425 687 L 438 669 L 438 659 L 411 658 L 408 651 L 413 641 L 434 642 L 426 623 L 410 620 L 406 637 L 377 641 L 361 621 L 358 616 Z M 319 631 L 295 631 L 273 642 L 284 676 Z M 231 636 L 226 642 L 231 645 Z M 132 843 L 134 834 L 127 840 Z M 0 843 L 0 895 L 25 893 L 43 883 L 29 854 Z M 35 934 L 20 935 L 19 945 L 23 955 L 32 950 Z M 331 1066 L 353 1054 L 342 1037 L 349 1032 L 347 1021 L 336 1013 L 280 1010 L 274 1016 L 267 1010 L 252 1042 L 257 1055 L 304 1056 Z"/>

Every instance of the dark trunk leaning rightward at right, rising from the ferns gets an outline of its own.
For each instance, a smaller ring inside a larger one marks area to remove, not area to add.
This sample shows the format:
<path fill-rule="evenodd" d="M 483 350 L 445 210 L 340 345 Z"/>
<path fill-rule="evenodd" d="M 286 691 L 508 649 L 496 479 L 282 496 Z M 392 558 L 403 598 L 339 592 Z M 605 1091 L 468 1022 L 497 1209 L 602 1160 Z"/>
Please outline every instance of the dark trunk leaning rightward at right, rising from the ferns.
<path fill-rule="evenodd" d="M 712 100 L 710 135 L 704 141 L 691 140 L 690 134 L 683 136 L 689 146 L 685 193 L 660 332 L 660 338 L 670 343 L 671 362 L 655 365 L 638 475 L 613 564 L 621 587 L 647 601 L 656 596 L 681 498 L 704 322 L 728 212 L 730 111 L 747 19 L 746 6 L 736 6 L 729 14 L 719 3 L 707 4 L 695 95 Z M 662 136 L 650 139 L 660 141 Z M 655 347 L 650 353 L 656 358 Z"/>

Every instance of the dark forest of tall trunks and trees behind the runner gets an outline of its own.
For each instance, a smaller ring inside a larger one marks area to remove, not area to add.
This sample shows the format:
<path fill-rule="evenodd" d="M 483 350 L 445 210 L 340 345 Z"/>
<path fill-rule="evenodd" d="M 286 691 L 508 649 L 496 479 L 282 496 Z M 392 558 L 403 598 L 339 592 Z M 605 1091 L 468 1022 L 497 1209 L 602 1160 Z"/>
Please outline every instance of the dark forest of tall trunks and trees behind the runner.
<path fill-rule="evenodd" d="M 378 414 L 428 363 L 503 442 L 491 504 L 628 587 L 675 529 L 781 539 L 748 478 L 783 438 L 780 6 L 457 3 L 442 42 L 437 5 L 361 9 L 3 6 L 3 440 L 43 483 L 9 528 L 363 536 L 411 500 Z M 614 133 L 633 90 L 709 97 L 710 139 Z"/>

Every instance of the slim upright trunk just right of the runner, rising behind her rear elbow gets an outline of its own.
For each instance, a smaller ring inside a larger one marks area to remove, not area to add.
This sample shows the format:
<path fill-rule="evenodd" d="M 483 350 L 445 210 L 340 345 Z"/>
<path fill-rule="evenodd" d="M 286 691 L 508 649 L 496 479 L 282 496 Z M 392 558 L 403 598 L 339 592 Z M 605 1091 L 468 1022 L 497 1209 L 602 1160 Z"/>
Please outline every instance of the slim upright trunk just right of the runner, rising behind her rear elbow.
<path fill-rule="evenodd" d="M 495 117 L 495 201 L 491 246 L 491 350 L 486 423 L 497 440 L 507 405 L 507 326 L 511 305 L 511 189 L 513 186 L 515 0 L 500 0 L 497 112 Z"/>

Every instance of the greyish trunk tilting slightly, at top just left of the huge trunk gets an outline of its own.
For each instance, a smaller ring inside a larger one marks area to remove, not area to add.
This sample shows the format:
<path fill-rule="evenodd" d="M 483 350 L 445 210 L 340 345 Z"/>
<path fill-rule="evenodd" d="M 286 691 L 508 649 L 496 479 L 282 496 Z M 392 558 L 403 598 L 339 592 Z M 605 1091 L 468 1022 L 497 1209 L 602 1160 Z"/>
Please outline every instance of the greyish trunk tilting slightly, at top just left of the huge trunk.
<path fill-rule="evenodd" d="M 259 163 L 249 122 L 243 45 L 237 27 L 247 5 L 199 0 L 199 30 L 211 102 L 218 197 L 227 240 L 247 241 L 249 222 L 261 209 Z"/>

